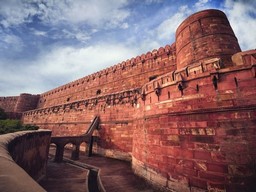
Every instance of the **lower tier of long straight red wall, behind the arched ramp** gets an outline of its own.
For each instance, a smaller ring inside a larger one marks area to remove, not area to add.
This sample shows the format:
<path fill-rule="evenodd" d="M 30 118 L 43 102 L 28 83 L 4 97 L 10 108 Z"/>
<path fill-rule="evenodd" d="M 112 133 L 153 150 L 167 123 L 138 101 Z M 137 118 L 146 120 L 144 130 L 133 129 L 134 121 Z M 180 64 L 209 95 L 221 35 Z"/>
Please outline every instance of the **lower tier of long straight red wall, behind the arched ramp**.
<path fill-rule="evenodd" d="M 64 105 L 28 111 L 25 123 L 52 130 L 55 136 L 84 134 L 95 115 L 100 115 L 97 152 L 107 156 L 131 159 L 133 115 L 140 90 L 95 97 Z"/>

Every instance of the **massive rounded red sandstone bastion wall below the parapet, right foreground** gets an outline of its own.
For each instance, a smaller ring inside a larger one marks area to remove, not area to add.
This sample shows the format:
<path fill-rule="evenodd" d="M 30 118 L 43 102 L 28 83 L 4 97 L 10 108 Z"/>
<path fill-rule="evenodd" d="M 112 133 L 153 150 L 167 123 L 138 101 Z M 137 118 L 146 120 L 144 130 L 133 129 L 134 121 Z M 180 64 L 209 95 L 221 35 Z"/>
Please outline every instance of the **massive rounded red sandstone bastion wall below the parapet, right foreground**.
<path fill-rule="evenodd" d="M 135 172 L 175 191 L 254 189 L 255 67 L 162 81 L 169 73 L 146 84 L 134 121 Z"/>

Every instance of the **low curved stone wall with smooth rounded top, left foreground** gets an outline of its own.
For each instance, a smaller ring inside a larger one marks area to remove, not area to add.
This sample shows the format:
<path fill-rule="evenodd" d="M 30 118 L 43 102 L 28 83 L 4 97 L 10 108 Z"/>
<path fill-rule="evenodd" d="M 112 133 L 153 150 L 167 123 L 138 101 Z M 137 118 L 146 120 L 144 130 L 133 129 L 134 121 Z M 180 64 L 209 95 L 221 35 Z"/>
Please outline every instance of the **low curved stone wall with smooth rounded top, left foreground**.
<path fill-rule="evenodd" d="M 50 139 L 48 130 L 0 135 L 0 191 L 45 191 L 35 180 L 45 174 Z"/>

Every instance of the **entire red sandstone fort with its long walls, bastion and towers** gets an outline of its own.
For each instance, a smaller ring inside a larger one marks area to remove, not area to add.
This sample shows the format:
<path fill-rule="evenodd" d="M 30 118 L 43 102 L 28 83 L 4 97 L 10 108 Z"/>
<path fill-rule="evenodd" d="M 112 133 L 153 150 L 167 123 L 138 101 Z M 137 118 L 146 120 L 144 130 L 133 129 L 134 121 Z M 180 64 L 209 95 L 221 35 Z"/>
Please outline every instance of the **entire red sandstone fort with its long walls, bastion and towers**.
<path fill-rule="evenodd" d="M 53 136 L 83 134 L 98 115 L 94 152 L 130 160 L 151 183 L 242 192 L 256 188 L 255 95 L 256 50 L 241 52 L 225 14 L 205 10 L 172 45 L 0 107 Z"/>

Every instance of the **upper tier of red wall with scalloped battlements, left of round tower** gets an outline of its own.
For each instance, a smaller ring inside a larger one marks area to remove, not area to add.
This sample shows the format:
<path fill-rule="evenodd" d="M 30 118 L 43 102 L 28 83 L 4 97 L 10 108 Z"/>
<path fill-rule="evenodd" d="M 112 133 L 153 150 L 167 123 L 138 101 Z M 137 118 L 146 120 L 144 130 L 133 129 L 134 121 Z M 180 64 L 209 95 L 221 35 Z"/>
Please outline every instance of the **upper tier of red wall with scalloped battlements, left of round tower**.
<path fill-rule="evenodd" d="M 139 88 L 149 78 L 176 69 L 175 45 L 153 50 L 41 94 L 38 108 Z"/>

